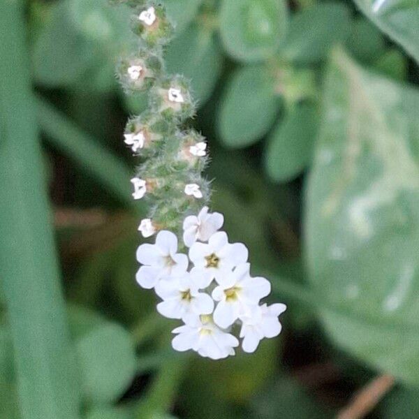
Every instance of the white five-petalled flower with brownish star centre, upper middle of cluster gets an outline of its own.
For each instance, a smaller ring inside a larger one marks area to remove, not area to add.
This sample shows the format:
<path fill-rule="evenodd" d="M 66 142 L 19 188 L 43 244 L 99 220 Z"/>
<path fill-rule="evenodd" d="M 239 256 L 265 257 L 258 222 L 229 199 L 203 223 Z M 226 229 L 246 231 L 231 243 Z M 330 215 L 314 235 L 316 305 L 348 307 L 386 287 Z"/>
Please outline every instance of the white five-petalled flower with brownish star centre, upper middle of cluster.
<path fill-rule="evenodd" d="M 189 249 L 193 265 L 203 270 L 211 279 L 223 284 L 223 277 L 230 275 L 233 267 L 245 263 L 249 252 L 242 243 L 228 243 L 223 231 L 214 233 L 208 243 L 195 242 Z"/>

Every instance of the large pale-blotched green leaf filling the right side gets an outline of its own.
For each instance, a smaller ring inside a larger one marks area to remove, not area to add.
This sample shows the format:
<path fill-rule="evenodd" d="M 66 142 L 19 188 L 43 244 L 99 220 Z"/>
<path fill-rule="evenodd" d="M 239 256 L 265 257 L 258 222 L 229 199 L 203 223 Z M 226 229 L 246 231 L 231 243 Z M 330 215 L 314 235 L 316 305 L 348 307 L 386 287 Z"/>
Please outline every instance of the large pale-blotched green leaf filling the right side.
<path fill-rule="evenodd" d="M 419 385 L 418 91 L 335 52 L 307 195 L 307 261 L 330 337 Z M 333 307 L 333 308 L 331 308 Z"/>

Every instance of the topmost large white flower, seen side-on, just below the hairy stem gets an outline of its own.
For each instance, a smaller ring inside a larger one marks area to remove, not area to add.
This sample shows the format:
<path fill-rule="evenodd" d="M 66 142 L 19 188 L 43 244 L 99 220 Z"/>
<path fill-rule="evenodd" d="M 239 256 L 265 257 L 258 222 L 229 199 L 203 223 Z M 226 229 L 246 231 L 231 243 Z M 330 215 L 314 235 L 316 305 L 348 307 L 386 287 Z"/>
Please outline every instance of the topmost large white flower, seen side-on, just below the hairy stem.
<path fill-rule="evenodd" d="M 196 240 L 207 242 L 210 237 L 223 226 L 224 217 L 219 212 L 208 213 L 208 207 L 203 207 L 198 216 L 190 215 L 184 219 L 184 244 L 191 247 Z"/>

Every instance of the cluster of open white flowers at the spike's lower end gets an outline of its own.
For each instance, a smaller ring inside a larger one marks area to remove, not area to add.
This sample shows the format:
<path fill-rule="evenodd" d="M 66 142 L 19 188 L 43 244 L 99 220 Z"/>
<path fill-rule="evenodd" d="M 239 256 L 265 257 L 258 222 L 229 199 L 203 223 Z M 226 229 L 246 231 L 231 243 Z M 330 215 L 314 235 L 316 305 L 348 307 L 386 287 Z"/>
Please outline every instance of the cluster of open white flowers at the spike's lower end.
<path fill-rule="evenodd" d="M 220 231 L 223 215 L 203 207 L 198 216 L 187 216 L 183 223 L 183 242 L 188 255 L 178 253 L 177 236 L 162 230 L 155 244 L 138 247 L 142 264 L 138 284 L 154 288 L 161 298 L 157 311 L 177 318 L 184 325 L 175 328 L 172 346 L 177 351 L 192 349 L 212 359 L 235 355 L 239 346 L 233 335 L 240 326 L 245 352 L 253 352 L 264 337 L 281 332 L 278 316 L 284 304 L 260 305 L 270 293 L 270 282 L 251 277 L 247 247 L 229 243 Z"/>

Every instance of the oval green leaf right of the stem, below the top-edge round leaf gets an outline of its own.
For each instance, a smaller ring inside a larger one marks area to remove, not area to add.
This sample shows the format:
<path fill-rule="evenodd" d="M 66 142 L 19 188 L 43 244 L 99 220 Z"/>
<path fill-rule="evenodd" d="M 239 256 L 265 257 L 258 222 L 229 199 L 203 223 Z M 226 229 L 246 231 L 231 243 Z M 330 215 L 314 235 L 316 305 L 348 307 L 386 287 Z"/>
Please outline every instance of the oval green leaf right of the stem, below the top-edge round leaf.
<path fill-rule="evenodd" d="M 239 68 L 221 98 L 219 132 L 230 147 L 259 140 L 272 126 L 279 110 L 274 80 L 263 66 Z"/>

